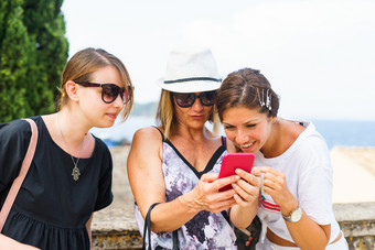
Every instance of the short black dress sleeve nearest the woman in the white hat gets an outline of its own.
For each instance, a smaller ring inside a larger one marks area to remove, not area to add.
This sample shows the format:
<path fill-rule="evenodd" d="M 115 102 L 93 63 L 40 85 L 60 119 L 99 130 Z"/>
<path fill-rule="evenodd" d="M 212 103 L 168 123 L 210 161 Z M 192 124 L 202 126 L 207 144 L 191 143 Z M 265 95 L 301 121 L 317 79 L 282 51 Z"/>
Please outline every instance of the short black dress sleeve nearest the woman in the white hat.
<path fill-rule="evenodd" d="M 99 140 L 103 148 L 101 171 L 98 184 L 98 196 L 96 199 L 94 211 L 100 210 L 109 206 L 114 200 L 111 192 L 113 185 L 113 159 L 107 145 Z"/>

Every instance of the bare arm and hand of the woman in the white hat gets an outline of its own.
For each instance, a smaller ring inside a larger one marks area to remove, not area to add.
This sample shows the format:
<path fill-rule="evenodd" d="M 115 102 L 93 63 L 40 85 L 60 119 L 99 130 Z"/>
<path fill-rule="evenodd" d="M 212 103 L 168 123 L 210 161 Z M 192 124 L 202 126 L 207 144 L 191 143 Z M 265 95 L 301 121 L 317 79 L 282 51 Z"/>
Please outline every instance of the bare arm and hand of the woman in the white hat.
<path fill-rule="evenodd" d="M 127 167 L 131 191 L 143 218 L 153 203 L 161 203 L 151 213 L 151 229 L 154 232 L 173 231 L 201 210 L 218 213 L 235 203 L 234 191 L 219 193 L 218 188 L 237 178 L 217 180 L 217 174 L 203 175 L 193 191 L 165 203 L 162 143 L 159 131 L 153 128 L 135 133 Z"/>

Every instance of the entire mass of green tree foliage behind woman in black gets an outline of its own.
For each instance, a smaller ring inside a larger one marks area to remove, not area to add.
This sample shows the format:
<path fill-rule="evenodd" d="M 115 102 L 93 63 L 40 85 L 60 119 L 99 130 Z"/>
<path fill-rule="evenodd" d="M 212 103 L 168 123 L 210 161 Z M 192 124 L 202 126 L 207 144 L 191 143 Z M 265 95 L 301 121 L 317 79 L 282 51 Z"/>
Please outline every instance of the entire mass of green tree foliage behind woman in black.
<path fill-rule="evenodd" d="M 0 1 L 0 122 L 54 111 L 68 51 L 61 4 Z"/>

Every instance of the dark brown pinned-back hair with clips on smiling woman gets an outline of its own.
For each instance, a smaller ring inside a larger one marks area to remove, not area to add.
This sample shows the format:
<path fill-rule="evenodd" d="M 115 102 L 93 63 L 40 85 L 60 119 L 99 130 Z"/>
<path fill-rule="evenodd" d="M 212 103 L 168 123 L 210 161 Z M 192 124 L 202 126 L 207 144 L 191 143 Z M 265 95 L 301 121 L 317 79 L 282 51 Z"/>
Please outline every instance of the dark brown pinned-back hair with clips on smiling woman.
<path fill-rule="evenodd" d="M 268 107 L 265 104 L 270 100 Z M 264 102 L 264 105 L 261 105 Z M 218 117 L 223 120 L 223 112 L 233 107 L 257 108 L 260 113 L 277 117 L 279 97 L 272 90 L 267 78 L 257 69 L 243 68 L 231 73 L 217 90 L 216 107 Z"/>

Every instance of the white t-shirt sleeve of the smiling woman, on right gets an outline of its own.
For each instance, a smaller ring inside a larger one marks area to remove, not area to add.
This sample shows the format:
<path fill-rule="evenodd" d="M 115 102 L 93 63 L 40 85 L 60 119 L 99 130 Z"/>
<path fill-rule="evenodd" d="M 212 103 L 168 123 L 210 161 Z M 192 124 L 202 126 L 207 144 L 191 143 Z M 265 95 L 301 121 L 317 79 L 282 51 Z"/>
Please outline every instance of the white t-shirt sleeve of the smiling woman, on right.
<path fill-rule="evenodd" d="M 318 138 L 302 149 L 298 199 L 307 215 L 319 225 L 331 224 L 333 170 L 329 149 Z"/>

